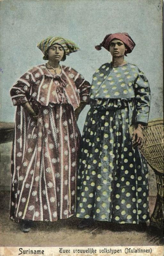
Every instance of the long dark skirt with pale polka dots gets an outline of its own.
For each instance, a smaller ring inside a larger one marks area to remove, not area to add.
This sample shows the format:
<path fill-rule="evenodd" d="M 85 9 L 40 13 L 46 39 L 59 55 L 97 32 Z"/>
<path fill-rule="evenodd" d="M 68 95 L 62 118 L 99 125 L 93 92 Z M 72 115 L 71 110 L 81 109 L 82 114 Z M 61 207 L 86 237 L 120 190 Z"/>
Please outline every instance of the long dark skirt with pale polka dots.
<path fill-rule="evenodd" d="M 128 100 L 99 100 L 90 108 L 82 136 L 76 217 L 149 220 L 148 168 L 129 135 L 133 113 L 134 101 Z"/>

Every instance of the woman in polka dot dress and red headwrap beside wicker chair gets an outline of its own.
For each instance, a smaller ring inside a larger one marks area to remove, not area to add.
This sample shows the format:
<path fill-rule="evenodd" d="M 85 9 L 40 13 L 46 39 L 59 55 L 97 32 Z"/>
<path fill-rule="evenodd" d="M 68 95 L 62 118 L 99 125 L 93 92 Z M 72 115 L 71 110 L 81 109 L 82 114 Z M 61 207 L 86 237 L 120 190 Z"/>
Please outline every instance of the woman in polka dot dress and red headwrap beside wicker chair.
<path fill-rule="evenodd" d="M 148 168 L 137 148 L 143 145 L 142 127 L 148 122 L 149 83 L 136 65 L 124 60 L 135 46 L 127 33 L 109 34 L 96 49 L 101 46 L 112 62 L 93 75 L 78 173 L 76 216 L 84 219 L 79 228 L 93 220 L 149 220 Z"/>

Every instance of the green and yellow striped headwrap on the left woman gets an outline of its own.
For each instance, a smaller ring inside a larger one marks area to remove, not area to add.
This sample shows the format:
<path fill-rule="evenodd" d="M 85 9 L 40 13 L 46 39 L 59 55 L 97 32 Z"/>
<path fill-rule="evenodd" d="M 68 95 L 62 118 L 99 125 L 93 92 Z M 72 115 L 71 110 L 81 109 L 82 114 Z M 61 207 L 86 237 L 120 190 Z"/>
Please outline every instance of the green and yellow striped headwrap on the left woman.
<path fill-rule="evenodd" d="M 47 52 L 48 48 L 51 45 L 54 44 L 60 44 L 64 48 L 65 55 L 69 55 L 72 52 L 77 52 L 79 51 L 79 47 L 72 41 L 62 38 L 62 37 L 54 37 L 54 36 L 49 36 L 46 39 L 43 39 L 37 47 L 43 52 L 43 60 L 47 60 Z"/>

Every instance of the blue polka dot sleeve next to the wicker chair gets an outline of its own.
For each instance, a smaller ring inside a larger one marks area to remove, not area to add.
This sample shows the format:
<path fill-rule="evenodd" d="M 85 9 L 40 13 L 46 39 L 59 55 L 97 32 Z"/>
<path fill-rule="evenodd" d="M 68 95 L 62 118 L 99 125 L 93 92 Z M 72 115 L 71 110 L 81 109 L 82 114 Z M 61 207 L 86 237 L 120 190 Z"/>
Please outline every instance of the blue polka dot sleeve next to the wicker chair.
<path fill-rule="evenodd" d="M 144 74 L 139 70 L 135 82 L 135 96 L 136 96 L 136 123 L 147 124 L 150 110 L 150 87 Z"/>

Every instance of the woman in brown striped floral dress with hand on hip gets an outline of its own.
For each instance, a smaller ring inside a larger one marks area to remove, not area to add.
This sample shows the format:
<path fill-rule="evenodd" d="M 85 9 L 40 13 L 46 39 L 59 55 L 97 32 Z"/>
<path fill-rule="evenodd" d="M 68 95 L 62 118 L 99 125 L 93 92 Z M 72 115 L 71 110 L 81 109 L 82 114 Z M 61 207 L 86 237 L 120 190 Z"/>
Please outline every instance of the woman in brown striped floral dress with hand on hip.
<path fill-rule="evenodd" d="M 10 218 L 28 232 L 32 221 L 74 215 L 80 142 L 78 115 L 90 84 L 60 65 L 79 50 L 72 41 L 48 37 L 38 44 L 46 64 L 27 71 L 11 89 L 17 106 L 12 149 Z"/>

